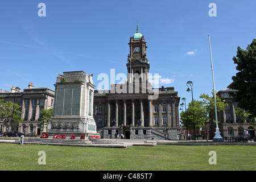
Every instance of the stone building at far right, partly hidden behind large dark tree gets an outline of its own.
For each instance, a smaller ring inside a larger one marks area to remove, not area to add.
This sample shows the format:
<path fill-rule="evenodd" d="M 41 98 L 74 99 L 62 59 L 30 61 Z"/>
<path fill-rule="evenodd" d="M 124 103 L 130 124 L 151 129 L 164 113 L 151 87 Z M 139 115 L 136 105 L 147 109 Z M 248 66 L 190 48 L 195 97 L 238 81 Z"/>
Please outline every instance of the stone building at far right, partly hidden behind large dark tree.
<path fill-rule="evenodd" d="M 230 89 L 229 86 L 225 90 L 220 90 L 217 92 L 218 97 L 221 98 L 221 101 L 225 102 L 227 106 L 225 106 L 225 110 L 218 112 L 218 122 L 221 136 L 224 140 L 236 140 L 240 135 L 247 135 L 253 139 L 255 138 L 255 126 L 249 125 L 249 123 L 254 122 L 253 119 L 243 119 L 241 116 L 236 115 L 235 109 L 237 107 L 237 102 L 233 101 L 232 96 L 230 96 L 230 92 L 237 92 L 237 90 Z M 214 112 L 210 114 L 210 121 L 215 119 Z M 215 132 L 215 123 L 209 122 L 209 135 L 210 138 L 214 137 Z"/>

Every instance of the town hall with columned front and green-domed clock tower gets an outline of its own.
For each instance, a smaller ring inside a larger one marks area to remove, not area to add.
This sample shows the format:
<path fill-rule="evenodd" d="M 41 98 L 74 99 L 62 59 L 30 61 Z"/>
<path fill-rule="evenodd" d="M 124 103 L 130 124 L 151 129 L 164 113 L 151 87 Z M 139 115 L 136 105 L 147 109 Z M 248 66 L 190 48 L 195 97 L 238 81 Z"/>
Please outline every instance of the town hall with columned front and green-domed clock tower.
<path fill-rule="evenodd" d="M 94 90 L 93 117 L 101 138 L 181 139 L 180 97 L 173 87 L 152 88 L 146 41 L 137 32 L 128 43 L 127 81 Z"/>

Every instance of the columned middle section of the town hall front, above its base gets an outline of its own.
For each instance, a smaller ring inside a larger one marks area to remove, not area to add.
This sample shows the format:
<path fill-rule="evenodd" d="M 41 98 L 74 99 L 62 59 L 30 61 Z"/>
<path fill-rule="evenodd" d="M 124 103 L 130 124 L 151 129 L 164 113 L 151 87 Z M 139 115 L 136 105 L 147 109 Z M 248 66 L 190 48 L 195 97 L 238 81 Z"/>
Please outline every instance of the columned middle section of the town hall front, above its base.
<path fill-rule="evenodd" d="M 158 110 L 154 104 L 158 103 Z M 140 126 L 140 127 L 178 127 L 176 119 L 175 100 L 148 100 L 145 96 L 108 98 L 106 102 L 99 101 L 95 105 L 102 105 L 102 110 L 94 112 L 96 121 L 100 120 L 101 127 Z M 104 106 L 103 106 L 104 105 Z M 164 106 L 163 106 L 164 105 Z M 106 107 L 106 108 L 105 108 Z M 100 119 L 98 119 L 100 118 Z M 158 122 L 155 122 L 157 118 Z M 113 122 L 114 121 L 114 122 Z M 139 125 L 139 122 L 141 124 Z"/>

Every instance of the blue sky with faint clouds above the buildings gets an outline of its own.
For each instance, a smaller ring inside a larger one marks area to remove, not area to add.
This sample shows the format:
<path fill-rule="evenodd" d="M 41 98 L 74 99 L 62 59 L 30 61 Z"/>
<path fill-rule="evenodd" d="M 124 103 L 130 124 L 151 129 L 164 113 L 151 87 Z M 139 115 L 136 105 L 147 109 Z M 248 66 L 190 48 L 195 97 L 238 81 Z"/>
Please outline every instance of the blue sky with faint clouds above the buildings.
<path fill-rule="evenodd" d="M 40 2 L 46 17 L 38 16 Z M 212 2 L 216 17 L 208 15 Z M 138 21 L 150 73 L 159 73 L 159 86 L 174 86 L 188 103 L 187 81 L 193 81 L 195 99 L 213 89 L 208 34 L 216 90 L 232 82 L 237 47 L 246 49 L 256 38 L 255 6 L 255 0 L 1 1 L 0 88 L 32 82 L 54 90 L 57 75 L 66 71 L 93 73 L 96 86 L 100 73 L 126 74 L 127 43 Z"/>

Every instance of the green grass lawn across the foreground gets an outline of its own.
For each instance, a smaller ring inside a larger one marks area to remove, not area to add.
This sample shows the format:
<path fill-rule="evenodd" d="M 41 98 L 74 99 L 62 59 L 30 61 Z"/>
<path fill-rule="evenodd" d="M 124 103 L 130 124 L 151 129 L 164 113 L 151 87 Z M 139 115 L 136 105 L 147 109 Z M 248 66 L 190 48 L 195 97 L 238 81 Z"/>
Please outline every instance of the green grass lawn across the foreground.
<path fill-rule="evenodd" d="M 64 147 L 0 143 L 0 170 L 256 170 L 256 146 Z M 39 151 L 46 165 L 39 165 Z M 217 164 L 210 165 L 209 151 Z"/>

